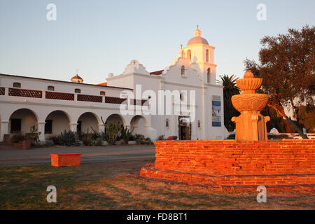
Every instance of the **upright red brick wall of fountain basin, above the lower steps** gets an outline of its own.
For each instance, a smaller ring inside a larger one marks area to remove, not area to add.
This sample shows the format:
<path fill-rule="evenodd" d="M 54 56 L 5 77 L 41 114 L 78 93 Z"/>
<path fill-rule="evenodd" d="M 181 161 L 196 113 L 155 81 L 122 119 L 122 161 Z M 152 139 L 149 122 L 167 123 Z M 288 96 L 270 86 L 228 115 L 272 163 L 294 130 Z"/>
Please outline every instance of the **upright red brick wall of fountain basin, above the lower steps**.
<path fill-rule="evenodd" d="M 315 174 L 315 140 L 155 141 L 155 169 L 213 175 Z"/>

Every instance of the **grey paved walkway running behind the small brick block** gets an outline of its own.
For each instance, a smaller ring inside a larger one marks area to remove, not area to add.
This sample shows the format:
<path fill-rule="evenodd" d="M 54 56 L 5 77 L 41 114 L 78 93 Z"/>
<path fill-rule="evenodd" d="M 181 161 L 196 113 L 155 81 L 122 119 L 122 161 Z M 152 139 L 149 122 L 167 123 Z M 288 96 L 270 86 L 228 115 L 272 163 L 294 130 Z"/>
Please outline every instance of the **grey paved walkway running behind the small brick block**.
<path fill-rule="evenodd" d="M 83 153 L 82 163 L 146 160 L 155 157 L 155 146 L 52 146 L 31 150 L 0 146 L 0 166 L 50 163 L 50 153 Z"/>

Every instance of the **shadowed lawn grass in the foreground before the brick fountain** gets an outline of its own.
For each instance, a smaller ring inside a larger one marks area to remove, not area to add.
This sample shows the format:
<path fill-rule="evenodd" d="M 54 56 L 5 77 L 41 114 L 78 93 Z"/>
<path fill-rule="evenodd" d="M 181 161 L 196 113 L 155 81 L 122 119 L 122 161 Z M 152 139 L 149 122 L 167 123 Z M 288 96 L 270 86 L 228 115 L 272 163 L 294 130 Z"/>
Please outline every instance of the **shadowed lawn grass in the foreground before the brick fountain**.
<path fill-rule="evenodd" d="M 314 191 L 225 192 L 137 177 L 147 161 L 0 167 L 0 209 L 314 209 Z M 132 174 L 132 175 L 130 175 Z M 46 188 L 57 188 L 57 203 Z"/>

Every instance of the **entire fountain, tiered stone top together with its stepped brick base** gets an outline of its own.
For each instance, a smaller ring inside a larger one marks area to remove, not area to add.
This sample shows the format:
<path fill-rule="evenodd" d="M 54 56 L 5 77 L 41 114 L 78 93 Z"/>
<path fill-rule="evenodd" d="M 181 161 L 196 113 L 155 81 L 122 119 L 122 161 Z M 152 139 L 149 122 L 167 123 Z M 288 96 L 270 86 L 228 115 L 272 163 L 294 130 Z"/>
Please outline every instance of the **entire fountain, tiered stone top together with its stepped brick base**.
<path fill-rule="evenodd" d="M 315 140 L 257 141 L 267 140 L 270 120 L 260 114 L 267 95 L 255 93 L 261 82 L 251 71 L 237 80 L 243 91 L 232 97 L 241 113 L 232 118 L 236 140 L 155 141 L 155 162 L 142 167 L 140 176 L 213 190 L 256 192 L 261 185 L 268 190 L 315 190 Z"/>

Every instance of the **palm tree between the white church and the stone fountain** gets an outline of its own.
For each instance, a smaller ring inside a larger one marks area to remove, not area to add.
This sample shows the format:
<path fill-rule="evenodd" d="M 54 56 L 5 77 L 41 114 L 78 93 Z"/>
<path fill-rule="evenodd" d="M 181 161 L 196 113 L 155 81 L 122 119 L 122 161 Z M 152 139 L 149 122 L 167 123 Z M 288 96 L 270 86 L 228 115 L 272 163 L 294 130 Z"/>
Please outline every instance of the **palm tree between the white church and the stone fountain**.
<path fill-rule="evenodd" d="M 217 83 L 223 85 L 223 99 L 224 99 L 224 125 L 229 132 L 235 130 L 235 123 L 231 121 L 232 117 L 239 116 L 239 112 L 232 105 L 232 96 L 239 94 L 239 87 L 236 85 L 236 80 L 239 79 L 235 75 L 219 76 L 221 80 L 216 80 Z"/>

